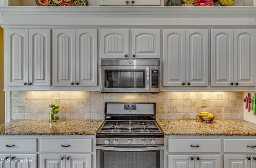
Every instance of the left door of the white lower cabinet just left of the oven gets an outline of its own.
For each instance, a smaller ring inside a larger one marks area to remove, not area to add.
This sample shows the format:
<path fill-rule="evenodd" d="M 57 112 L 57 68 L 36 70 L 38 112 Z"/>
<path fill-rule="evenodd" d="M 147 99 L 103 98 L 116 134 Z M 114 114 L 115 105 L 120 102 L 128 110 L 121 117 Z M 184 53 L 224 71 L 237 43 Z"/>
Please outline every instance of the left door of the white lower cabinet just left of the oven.
<path fill-rule="evenodd" d="M 63 157 L 63 160 L 61 160 Z M 66 168 L 66 155 L 64 154 L 41 154 L 40 168 Z"/>

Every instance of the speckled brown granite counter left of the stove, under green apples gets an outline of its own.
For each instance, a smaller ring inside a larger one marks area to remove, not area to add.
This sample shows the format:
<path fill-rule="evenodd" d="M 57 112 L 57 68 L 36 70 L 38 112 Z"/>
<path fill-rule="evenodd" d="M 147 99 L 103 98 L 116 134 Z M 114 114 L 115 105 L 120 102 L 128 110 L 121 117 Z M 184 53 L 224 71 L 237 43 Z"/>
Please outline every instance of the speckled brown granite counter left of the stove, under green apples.
<path fill-rule="evenodd" d="M 94 135 L 104 120 L 16 120 L 0 125 L 0 135 Z"/>

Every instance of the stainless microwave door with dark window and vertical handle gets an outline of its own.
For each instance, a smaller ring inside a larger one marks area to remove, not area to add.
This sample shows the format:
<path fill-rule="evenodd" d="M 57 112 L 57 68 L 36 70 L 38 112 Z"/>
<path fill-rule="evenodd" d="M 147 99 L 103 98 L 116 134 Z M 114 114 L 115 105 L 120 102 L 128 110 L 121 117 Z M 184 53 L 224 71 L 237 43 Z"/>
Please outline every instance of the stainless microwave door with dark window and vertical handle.
<path fill-rule="evenodd" d="M 150 92 L 150 67 L 101 66 L 101 92 Z"/>

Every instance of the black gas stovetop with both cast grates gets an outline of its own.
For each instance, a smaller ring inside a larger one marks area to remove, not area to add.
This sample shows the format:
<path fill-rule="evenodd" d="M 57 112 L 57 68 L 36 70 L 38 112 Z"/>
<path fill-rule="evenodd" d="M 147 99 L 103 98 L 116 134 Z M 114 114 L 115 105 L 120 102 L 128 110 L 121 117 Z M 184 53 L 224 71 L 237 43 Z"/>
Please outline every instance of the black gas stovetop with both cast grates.
<path fill-rule="evenodd" d="M 163 134 L 154 120 L 105 120 L 97 134 Z"/>

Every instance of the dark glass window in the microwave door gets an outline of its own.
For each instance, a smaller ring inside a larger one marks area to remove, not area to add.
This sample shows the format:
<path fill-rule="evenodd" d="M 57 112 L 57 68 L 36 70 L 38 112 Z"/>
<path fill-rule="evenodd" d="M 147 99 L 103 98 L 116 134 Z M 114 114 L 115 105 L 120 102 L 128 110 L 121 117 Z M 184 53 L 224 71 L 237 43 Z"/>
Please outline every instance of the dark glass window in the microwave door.
<path fill-rule="evenodd" d="M 105 88 L 146 88 L 145 70 L 105 70 Z"/>

